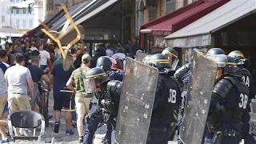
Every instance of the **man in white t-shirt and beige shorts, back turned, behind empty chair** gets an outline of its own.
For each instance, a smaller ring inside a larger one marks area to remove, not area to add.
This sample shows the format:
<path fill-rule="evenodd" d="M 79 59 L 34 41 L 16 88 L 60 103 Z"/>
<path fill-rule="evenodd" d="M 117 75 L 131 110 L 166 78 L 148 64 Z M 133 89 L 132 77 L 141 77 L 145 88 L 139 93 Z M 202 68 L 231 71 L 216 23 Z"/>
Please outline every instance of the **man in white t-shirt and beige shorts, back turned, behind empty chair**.
<path fill-rule="evenodd" d="M 8 105 L 10 111 L 31 110 L 30 98 L 34 97 L 34 82 L 30 70 L 24 66 L 23 54 L 15 55 L 15 66 L 6 70 Z M 30 93 L 28 93 L 30 90 Z M 29 98 L 30 97 L 30 98 Z"/>

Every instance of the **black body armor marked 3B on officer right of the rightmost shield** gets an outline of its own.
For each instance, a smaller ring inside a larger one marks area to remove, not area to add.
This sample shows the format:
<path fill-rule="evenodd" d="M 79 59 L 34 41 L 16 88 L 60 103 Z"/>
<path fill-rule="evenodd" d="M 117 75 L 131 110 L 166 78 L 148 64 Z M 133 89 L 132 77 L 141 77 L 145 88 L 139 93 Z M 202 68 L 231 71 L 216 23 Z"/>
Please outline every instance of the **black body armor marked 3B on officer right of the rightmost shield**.
<path fill-rule="evenodd" d="M 224 106 L 225 100 L 230 97 L 230 90 L 233 88 L 238 91 L 235 96 L 238 104 L 237 106 Z M 230 125 L 237 132 L 240 132 L 242 129 L 242 114 L 245 112 L 249 101 L 249 90 L 246 85 L 237 77 L 226 76 L 215 84 L 213 95 L 220 98 L 221 102 L 218 102 L 214 108 L 210 108 L 207 122 L 210 132 L 214 131 L 221 122 L 230 122 Z"/>

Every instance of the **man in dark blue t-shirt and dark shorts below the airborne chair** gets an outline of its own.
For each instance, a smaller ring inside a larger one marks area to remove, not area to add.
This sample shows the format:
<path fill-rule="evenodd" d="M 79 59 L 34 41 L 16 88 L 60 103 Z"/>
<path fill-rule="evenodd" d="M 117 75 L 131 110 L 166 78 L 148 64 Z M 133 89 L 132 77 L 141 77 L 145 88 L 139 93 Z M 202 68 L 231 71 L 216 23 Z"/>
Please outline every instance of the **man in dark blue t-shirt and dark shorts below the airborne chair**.
<path fill-rule="evenodd" d="M 60 126 L 61 110 L 62 108 L 70 109 L 70 94 L 63 93 L 61 90 L 64 90 L 66 87 L 66 82 L 69 80 L 70 75 L 74 71 L 74 68 L 70 70 L 63 70 L 63 63 L 58 63 L 54 66 L 52 70 L 52 75 L 54 79 L 54 117 L 55 117 L 55 126 L 54 132 L 58 133 Z M 74 109 L 74 102 L 72 103 L 71 109 Z M 66 135 L 74 134 L 74 131 L 71 130 L 71 112 L 66 111 Z"/>

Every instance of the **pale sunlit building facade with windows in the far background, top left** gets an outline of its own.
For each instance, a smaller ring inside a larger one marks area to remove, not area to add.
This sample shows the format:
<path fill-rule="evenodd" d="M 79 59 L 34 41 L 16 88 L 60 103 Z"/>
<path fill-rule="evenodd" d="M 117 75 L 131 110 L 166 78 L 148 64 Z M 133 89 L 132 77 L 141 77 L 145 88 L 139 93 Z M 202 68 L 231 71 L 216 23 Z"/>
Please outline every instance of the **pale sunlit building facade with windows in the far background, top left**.
<path fill-rule="evenodd" d="M 43 21 L 40 0 L 0 0 L 0 27 L 11 26 L 23 32 L 33 29 Z"/>

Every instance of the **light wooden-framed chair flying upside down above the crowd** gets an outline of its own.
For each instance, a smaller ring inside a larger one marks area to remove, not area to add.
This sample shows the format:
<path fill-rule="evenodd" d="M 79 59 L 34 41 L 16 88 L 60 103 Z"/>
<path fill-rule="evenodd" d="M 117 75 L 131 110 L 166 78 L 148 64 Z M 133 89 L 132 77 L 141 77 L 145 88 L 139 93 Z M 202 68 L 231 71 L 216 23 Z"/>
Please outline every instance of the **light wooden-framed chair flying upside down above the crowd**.
<path fill-rule="evenodd" d="M 54 42 L 58 44 L 62 52 L 62 57 L 64 58 L 63 69 L 69 70 L 71 66 L 73 66 L 73 57 L 70 54 L 71 46 L 74 46 L 75 43 L 81 42 L 82 49 L 85 49 L 85 43 L 82 40 L 82 35 L 84 34 L 84 28 L 81 25 L 76 25 L 74 20 L 72 19 L 69 11 L 66 6 L 62 4 L 62 9 L 65 11 L 66 22 L 62 27 L 62 30 L 50 30 L 46 24 L 42 22 L 42 32 L 49 36 Z"/>

